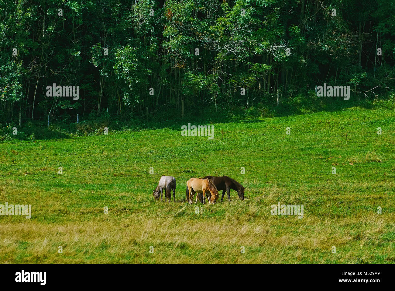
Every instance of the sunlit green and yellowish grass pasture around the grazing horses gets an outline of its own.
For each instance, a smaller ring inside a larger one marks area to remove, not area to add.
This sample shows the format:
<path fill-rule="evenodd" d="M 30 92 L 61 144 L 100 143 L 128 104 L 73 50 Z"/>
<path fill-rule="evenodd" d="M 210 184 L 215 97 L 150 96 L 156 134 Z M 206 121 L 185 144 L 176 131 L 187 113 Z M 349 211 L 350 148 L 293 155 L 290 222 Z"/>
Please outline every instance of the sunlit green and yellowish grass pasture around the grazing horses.
<path fill-rule="evenodd" d="M 32 218 L 0 216 L 0 262 L 394 263 L 394 124 L 391 108 L 354 107 L 213 124 L 213 140 L 180 124 L 4 142 L 0 204 L 31 204 Z M 162 175 L 176 202 L 153 200 Z M 186 181 L 205 175 L 233 177 L 245 200 L 187 204 Z M 278 202 L 303 204 L 303 219 L 271 215 Z"/>

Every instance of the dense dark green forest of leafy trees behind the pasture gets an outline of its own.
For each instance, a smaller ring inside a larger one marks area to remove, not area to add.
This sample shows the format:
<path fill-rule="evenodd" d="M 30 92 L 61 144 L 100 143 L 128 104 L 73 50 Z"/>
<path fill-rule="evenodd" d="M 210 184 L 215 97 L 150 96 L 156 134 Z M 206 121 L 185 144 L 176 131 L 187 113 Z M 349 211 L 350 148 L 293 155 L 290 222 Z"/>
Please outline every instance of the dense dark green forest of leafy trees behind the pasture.
<path fill-rule="evenodd" d="M 393 0 L 0 0 L 0 122 L 264 115 L 297 96 L 336 99 L 317 97 L 323 84 L 350 86 L 354 100 L 393 97 L 394 10 Z"/>

